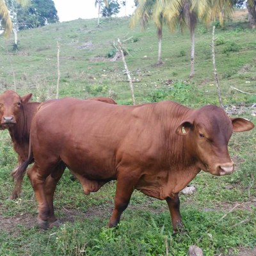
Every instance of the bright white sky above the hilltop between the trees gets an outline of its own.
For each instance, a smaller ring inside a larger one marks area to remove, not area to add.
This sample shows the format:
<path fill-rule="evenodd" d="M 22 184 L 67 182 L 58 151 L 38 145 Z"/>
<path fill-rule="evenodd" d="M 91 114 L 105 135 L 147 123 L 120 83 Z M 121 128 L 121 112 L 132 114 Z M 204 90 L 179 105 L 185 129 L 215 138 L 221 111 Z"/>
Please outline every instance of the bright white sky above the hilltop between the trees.
<path fill-rule="evenodd" d="M 58 12 L 60 22 L 76 19 L 92 19 L 98 17 L 98 9 L 95 8 L 95 0 L 53 0 Z M 70 4 L 71 3 L 71 4 Z M 134 0 L 126 0 L 126 13 L 131 15 L 134 11 Z M 122 6 L 118 17 L 125 16 L 125 8 Z"/>

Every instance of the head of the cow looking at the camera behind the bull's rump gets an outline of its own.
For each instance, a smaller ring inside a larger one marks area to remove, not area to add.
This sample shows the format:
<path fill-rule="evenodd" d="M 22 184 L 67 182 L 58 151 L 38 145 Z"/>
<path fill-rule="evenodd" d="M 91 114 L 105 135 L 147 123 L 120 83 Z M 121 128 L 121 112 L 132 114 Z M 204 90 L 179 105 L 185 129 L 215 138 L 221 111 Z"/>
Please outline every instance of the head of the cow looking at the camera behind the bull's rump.
<path fill-rule="evenodd" d="M 32 97 L 32 93 L 20 97 L 12 90 L 7 90 L 0 95 L 0 129 L 6 129 L 17 123 L 19 120 L 23 105 Z"/>

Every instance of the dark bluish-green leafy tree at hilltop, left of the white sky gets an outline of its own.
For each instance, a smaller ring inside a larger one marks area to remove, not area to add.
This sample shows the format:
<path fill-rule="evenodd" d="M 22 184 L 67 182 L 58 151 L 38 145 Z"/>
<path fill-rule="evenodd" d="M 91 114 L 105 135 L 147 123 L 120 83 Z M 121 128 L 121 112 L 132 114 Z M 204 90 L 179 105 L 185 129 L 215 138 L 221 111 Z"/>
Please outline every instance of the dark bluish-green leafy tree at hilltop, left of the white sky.
<path fill-rule="evenodd" d="M 19 29 L 38 28 L 59 21 L 52 0 L 31 0 L 27 8 L 19 8 L 17 17 Z"/>

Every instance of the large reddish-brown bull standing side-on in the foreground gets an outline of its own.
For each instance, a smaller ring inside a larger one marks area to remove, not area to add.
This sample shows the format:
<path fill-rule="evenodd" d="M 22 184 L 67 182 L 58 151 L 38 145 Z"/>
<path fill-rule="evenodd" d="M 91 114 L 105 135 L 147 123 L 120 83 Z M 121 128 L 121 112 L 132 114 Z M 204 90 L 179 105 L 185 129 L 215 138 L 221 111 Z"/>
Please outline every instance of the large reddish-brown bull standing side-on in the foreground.
<path fill-rule="evenodd" d="M 72 98 L 42 104 L 31 125 L 35 163 L 28 170 L 39 225 L 58 225 L 53 195 L 68 166 L 85 194 L 117 180 L 109 227 L 120 221 L 138 189 L 166 200 L 176 232 L 181 224 L 179 191 L 200 170 L 212 175 L 232 173 L 230 136 L 253 127 L 248 120 L 229 118 L 211 105 L 190 109 L 165 101 L 118 106 Z M 29 159 L 14 173 L 16 179 L 28 163 Z"/>

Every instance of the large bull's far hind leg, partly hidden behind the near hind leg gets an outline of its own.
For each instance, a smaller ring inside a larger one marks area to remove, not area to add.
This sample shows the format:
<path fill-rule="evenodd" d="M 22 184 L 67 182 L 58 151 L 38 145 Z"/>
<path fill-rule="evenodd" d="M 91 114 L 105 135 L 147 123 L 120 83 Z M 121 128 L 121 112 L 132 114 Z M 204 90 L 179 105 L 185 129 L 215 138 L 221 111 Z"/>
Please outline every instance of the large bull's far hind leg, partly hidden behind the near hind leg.
<path fill-rule="evenodd" d="M 66 168 L 65 164 L 61 162 L 60 164 L 58 164 L 58 166 L 56 166 L 56 168 L 53 170 L 51 175 L 49 175 L 45 180 L 45 196 L 46 196 L 47 204 L 49 206 L 49 218 L 48 218 L 49 227 L 60 225 L 60 221 L 57 220 L 54 214 L 53 197 L 54 197 L 54 191 L 56 189 L 57 183 L 60 180 L 61 176 L 63 175 L 65 168 Z"/>

